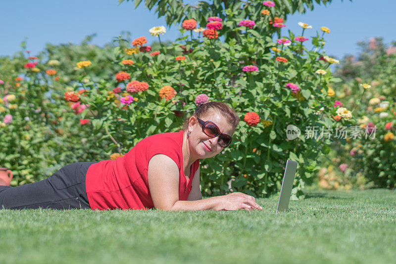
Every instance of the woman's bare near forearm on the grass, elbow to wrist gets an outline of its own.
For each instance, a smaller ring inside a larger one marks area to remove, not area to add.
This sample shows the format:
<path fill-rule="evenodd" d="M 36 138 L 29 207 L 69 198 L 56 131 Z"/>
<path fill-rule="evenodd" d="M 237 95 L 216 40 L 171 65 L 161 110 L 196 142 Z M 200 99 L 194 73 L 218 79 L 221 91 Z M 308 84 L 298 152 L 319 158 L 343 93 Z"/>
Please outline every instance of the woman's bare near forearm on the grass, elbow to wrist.
<path fill-rule="evenodd" d="M 222 196 L 210 197 L 196 201 L 177 201 L 169 210 L 222 210 L 224 209 Z"/>

